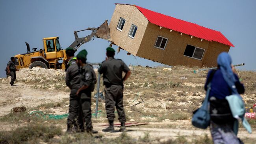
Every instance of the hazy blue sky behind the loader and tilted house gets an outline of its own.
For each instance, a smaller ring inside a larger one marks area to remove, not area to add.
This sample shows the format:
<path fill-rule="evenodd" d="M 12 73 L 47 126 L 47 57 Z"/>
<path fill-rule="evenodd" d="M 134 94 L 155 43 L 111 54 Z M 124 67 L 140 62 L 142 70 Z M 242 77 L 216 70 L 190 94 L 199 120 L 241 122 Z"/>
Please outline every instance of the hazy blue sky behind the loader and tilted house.
<path fill-rule="evenodd" d="M 221 31 L 235 45 L 229 51 L 233 63 L 245 63 L 240 69 L 256 70 L 256 0 L 0 0 L 0 77 L 5 77 L 11 56 L 26 53 L 25 41 L 30 49 L 40 49 L 43 38 L 59 36 L 65 49 L 74 41 L 73 31 L 110 21 L 115 3 L 139 5 Z M 78 36 L 87 34 L 81 32 Z M 90 62 L 101 62 L 108 45 L 107 41 L 95 38 L 78 52 L 86 49 Z M 136 65 L 136 59 L 126 53 L 121 50 L 116 58 Z M 143 66 L 160 65 L 138 57 L 137 61 Z"/>

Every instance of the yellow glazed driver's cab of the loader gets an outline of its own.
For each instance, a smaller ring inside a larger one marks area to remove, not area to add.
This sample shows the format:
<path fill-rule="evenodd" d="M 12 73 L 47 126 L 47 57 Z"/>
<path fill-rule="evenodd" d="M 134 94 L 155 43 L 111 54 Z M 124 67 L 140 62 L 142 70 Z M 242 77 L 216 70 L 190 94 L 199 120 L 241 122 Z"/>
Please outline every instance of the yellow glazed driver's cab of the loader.
<path fill-rule="evenodd" d="M 46 59 L 63 58 L 63 51 L 59 44 L 59 37 L 43 38 Z"/>

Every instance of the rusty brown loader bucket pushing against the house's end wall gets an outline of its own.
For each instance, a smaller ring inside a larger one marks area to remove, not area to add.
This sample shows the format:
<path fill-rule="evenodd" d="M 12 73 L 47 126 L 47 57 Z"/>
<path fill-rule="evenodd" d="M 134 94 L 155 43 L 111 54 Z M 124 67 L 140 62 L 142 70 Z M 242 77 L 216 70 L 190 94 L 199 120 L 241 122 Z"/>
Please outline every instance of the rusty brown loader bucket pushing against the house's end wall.
<path fill-rule="evenodd" d="M 100 27 L 97 28 L 95 34 L 97 38 L 102 38 L 111 41 L 110 32 L 108 28 L 108 20 L 106 20 L 104 23 L 102 23 L 102 25 L 100 25 Z"/>

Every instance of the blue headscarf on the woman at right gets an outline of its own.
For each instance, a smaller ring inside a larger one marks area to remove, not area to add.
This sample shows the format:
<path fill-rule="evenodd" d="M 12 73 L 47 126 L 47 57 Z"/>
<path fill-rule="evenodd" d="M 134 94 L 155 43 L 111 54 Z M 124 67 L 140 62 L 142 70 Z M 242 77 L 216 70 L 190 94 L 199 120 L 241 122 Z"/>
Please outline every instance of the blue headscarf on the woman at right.
<path fill-rule="evenodd" d="M 231 68 L 231 57 L 228 53 L 222 52 L 217 58 L 217 63 L 221 69 L 224 80 L 232 90 L 232 94 L 238 94 L 235 82 L 237 81 Z"/>

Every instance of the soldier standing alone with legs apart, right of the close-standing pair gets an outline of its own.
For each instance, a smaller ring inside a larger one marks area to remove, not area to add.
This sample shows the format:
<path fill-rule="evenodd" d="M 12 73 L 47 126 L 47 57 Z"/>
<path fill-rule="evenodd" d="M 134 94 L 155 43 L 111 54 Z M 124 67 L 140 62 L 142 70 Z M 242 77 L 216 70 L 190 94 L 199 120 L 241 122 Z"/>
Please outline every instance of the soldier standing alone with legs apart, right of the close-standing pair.
<path fill-rule="evenodd" d="M 130 69 L 121 59 L 115 59 L 115 50 L 112 47 L 107 48 L 106 61 L 103 61 L 100 65 L 99 72 L 103 74 L 105 88 L 105 103 L 106 112 L 109 121 L 109 127 L 102 130 L 105 132 L 114 132 L 113 122 L 115 119 L 115 107 L 121 122 L 121 128 L 119 131 L 125 130 L 125 113 L 123 106 L 123 88 L 124 81 L 128 79 L 131 74 Z M 125 76 L 122 77 L 122 72 L 125 72 Z"/>

